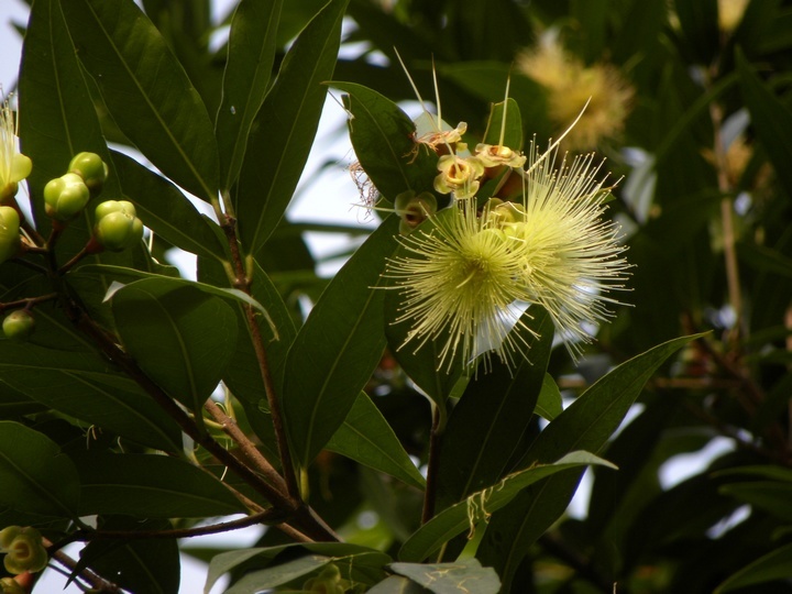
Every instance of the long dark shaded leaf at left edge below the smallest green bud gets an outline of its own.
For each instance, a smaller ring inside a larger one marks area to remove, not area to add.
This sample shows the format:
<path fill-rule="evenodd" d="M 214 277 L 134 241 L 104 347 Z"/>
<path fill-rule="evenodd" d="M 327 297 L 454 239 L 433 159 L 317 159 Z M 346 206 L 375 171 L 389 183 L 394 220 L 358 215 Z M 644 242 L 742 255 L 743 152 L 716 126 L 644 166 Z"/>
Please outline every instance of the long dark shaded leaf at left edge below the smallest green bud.
<path fill-rule="evenodd" d="M 0 341 L 0 376 L 36 403 L 86 424 L 157 450 L 182 449 L 174 420 L 97 356 Z"/>

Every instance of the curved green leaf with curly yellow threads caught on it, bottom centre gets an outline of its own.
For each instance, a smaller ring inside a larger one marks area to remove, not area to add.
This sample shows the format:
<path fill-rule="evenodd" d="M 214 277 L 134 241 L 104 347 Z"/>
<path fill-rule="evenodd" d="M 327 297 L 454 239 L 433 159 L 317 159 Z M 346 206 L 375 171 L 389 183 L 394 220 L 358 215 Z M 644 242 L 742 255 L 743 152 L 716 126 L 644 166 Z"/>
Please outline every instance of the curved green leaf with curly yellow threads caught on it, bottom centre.
<path fill-rule="evenodd" d="M 399 550 L 399 559 L 420 562 L 458 535 L 468 531 L 472 538 L 476 524 L 486 521 L 491 514 L 505 507 L 529 485 L 557 472 L 588 464 L 615 468 L 602 458 L 579 451 L 571 452 L 552 464 L 536 465 L 509 474 L 503 481 L 477 491 L 466 499 L 443 509 L 421 526 L 404 543 Z"/>

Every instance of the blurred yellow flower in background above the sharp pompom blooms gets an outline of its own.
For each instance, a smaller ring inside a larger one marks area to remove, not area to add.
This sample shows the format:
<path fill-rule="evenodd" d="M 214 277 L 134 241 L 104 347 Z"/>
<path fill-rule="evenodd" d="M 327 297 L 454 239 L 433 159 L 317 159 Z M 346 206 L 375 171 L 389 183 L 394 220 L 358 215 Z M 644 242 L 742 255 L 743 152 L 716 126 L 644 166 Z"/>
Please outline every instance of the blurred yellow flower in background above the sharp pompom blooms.
<path fill-rule="evenodd" d="M 558 36 L 544 35 L 535 50 L 518 58 L 517 67 L 547 89 L 550 118 L 559 127 L 574 120 L 588 101 L 566 135 L 568 148 L 594 148 L 602 139 L 624 130 L 634 91 L 614 66 L 585 66 L 564 51 Z"/>

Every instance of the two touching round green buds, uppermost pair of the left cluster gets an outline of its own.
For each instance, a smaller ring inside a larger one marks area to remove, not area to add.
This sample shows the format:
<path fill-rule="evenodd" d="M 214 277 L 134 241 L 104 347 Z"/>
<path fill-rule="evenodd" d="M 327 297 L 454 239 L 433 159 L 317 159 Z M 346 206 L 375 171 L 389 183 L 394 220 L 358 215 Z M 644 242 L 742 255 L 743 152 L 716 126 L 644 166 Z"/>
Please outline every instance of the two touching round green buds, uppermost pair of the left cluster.
<path fill-rule="evenodd" d="M 46 213 L 65 222 L 73 219 L 92 197 L 101 193 L 108 166 L 96 153 L 78 153 L 68 166 L 68 173 L 51 179 L 44 186 Z"/>

